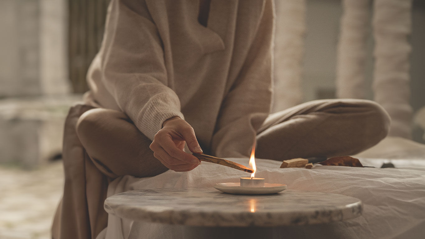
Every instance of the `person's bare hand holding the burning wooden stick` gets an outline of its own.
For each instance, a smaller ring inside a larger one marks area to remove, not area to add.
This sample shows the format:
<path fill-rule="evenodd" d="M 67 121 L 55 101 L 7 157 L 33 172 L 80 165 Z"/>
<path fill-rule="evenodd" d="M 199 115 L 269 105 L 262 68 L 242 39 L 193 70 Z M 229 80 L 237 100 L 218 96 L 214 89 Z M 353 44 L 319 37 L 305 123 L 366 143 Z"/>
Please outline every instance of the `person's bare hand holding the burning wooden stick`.
<path fill-rule="evenodd" d="M 173 117 L 164 122 L 149 148 L 165 167 L 176 172 L 185 172 L 196 168 L 200 161 L 183 151 L 184 142 L 193 153 L 202 153 L 192 126 L 180 117 Z"/>

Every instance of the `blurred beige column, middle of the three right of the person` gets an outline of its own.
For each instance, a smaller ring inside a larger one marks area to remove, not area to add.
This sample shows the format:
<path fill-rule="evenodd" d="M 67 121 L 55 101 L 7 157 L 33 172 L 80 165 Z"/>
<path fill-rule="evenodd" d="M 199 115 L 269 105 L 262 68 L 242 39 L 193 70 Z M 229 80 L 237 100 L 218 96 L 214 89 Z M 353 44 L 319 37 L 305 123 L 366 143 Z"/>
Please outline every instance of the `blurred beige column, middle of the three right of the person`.
<path fill-rule="evenodd" d="M 336 94 L 338 98 L 364 99 L 371 0 L 343 0 L 342 6 Z"/>

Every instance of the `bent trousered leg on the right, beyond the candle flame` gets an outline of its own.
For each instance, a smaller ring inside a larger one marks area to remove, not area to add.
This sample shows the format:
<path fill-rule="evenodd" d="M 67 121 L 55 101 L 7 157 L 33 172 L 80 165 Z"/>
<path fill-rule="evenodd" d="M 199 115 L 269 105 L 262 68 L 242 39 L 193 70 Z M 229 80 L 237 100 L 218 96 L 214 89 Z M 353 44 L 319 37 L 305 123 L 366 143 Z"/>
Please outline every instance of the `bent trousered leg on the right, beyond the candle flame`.
<path fill-rule="evenodd" d="M 269 115 L 257 135 L 255 156 L 278 161 L 359 153 L 388 134 L 390 118 L 370 100 L 306 102 Z"/>

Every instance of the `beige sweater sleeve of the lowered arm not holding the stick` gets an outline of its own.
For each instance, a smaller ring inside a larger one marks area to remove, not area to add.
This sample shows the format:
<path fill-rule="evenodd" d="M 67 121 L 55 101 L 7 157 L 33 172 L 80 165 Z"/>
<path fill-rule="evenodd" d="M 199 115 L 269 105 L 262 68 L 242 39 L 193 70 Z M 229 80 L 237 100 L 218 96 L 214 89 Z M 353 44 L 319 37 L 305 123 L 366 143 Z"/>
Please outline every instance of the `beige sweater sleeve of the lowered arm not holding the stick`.
<path fill-rule="evenodd" d="M 273 3 L 266 0 L 245 63 L 218 115 L 211 145 L 218 157 L 249 156 L 257 130 L 269 115 L 273 35 Z"/>

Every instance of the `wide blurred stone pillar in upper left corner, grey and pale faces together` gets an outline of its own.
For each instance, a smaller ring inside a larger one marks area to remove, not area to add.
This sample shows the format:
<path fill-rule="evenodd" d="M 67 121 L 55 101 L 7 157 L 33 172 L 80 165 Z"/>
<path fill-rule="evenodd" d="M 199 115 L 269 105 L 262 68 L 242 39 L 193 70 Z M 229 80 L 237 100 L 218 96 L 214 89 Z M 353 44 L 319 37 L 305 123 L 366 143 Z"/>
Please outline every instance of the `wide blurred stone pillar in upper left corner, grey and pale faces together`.
<path fill-rule="evenodd" d="M 0 97 L 69 93 L 67 4 L 0 1 Z"/>

